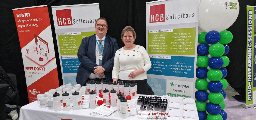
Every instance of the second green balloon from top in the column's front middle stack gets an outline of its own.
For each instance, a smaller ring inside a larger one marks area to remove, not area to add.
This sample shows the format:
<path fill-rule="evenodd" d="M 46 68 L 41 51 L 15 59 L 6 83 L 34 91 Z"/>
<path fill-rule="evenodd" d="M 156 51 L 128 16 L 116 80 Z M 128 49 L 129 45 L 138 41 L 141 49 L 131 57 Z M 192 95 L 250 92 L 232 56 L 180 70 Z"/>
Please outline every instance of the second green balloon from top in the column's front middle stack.
<path fill-rule="evenodd" d="M 207 78 L 211 81 L 219 81 L 222 78 L 222 72 L 219 69 L 210 69 L 207 72 Z"/>

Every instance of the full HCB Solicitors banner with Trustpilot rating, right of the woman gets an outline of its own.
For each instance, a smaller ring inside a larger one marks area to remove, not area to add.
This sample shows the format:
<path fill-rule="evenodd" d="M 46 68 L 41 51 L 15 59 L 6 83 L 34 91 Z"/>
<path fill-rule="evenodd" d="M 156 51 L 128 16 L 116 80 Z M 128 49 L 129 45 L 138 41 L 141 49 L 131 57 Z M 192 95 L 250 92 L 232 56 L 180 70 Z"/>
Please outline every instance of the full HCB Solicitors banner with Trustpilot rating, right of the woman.
<path fill-rule="evenodd" d="M 195 98 L 199 0 L 146 3 L 146 47 L 155 95 Z"/>

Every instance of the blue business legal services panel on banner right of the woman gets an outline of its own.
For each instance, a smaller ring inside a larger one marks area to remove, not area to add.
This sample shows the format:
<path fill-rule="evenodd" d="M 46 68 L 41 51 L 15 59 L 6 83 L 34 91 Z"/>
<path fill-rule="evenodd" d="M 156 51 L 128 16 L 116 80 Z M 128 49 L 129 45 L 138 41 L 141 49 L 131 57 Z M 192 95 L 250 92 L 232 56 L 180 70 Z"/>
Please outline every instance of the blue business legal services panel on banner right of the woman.
<path fill-rule="evenodd" d="M 150 58 L 148 74 L 194 78 L 195 57 L 172 56 L 171 59 Z"/>

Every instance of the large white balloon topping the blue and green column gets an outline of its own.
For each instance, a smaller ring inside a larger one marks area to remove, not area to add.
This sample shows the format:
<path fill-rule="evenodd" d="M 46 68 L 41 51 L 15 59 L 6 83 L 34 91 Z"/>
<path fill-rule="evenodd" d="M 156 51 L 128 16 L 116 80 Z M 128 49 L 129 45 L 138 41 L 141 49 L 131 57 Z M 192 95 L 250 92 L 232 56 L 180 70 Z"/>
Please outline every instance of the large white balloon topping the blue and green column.
<path fill-rule="evenodd" d="M 205 32 L 221 32 L 233 25 L 238 14 L 238 0 L 201 0 L 198 25 Z"/>

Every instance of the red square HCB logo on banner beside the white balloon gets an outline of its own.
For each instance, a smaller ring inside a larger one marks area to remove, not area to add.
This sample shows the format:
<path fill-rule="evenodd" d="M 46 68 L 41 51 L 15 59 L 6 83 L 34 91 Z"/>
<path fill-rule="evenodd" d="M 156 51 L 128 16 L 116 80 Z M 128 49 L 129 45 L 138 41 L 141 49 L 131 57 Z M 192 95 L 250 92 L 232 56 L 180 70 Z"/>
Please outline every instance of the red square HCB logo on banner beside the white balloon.
<path fill-rule="evenodd" d="M 165 4 L 153 5 L 149 7 L 149 23 L 164 22 Z"/>

